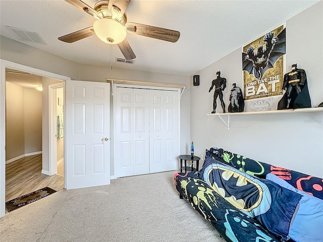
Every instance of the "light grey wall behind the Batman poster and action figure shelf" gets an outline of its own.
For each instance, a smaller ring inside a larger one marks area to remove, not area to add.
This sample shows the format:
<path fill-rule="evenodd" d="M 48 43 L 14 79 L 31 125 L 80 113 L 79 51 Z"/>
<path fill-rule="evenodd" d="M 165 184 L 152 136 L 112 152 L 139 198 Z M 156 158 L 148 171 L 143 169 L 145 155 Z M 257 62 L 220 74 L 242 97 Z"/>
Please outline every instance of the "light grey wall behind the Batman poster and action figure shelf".
<path fill-rule="evenodd" d="M 287 69 L 297 63 L 306 71 L 312 106 L 323 101 L 322 10 L 323 2 L 319 2 L 286 22 Z M 256 37 L 250 36 L 250 40 Z M 208 93 L 208 89 L 218 70 L 228 82 L 224 91 L 227 108 L 232 84 L 243 89 L 241 49 L 197 73 L 200 87 L 191 92 L 191 139 L 196 155 L 216 146 L 323 177 L 323 112 L 231 115 L 228 130 L 219 116 L 206 115 L 212 111 L 213 91 Z M 222 112 L 219 100 L 218 108 Z M 222 117 L 227 122 L 227 117 Z"/>

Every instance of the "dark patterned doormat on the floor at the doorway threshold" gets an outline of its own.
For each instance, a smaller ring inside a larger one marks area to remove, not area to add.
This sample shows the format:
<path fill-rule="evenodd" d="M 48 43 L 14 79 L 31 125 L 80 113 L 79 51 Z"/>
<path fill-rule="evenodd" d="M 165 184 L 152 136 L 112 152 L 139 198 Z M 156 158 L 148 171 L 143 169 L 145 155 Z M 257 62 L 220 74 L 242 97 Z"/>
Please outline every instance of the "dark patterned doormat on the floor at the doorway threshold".
<path fill-rule="evenodd" d="M 12 211 L 16 210 L 17 208 L 21 208 L 22 206 L 36 202 L 39 199 L 47 197 L 48 195 L 56 193 L 56 192 L 57 191 L 55 191 L 51 188 L 48 188 L 48 187 L 39 189 L 39 190 L 34 191 L 32 193 L 28 193 L 28 194 L 23 195 L 19 198 L 15 198 L 13 200 L 10 200 L 9 202 L 6 202 L 6 210 L 8 212 L 12 212 Z"/>

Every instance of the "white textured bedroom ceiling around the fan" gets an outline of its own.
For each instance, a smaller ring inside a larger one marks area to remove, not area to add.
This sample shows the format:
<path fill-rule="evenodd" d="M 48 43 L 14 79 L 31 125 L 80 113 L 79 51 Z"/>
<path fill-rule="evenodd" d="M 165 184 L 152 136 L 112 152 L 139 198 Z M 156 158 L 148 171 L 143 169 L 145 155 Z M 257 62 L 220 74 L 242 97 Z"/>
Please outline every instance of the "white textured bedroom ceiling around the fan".
<path fill-rule="evenodd" d="M 94 7 L 95 1 L 83 0 Z M 127 34 L 137 58 L 133 65 L 116 63 L 123 57 L 95 35 L 74 43 L 58 37 L 93 25 L 94 18 L 63 0 L 0 0 L 1 35 L 17 40 L 6 27 L 37 32 L 46 42 L 28 43 L 73 62 L 147 72 L 190 76 L 319 2 L 315 1 L 143 1 L 132 0 L 128 22 L 178 30 L 176 43 Z"/>

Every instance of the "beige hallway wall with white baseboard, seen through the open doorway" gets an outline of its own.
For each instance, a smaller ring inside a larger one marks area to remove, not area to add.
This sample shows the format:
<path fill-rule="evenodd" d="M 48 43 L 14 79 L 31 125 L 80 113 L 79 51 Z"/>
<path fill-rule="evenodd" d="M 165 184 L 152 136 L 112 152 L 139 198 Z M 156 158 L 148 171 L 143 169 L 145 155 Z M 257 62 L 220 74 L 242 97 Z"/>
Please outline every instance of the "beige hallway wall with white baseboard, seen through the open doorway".
<path fill-rule="evenodd" d="M 41 92 L 7 82 L 6 160 L 41 152 Z"/>

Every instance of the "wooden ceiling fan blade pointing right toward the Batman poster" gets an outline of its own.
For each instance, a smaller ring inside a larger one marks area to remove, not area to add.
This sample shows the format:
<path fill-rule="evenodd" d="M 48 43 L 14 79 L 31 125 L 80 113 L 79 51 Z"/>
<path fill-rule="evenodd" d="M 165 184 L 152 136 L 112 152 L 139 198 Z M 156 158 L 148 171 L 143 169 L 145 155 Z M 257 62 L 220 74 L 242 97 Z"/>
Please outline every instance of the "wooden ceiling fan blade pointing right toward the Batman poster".
<path fill-rule="evenodd" d="M 127 28 L 127 30 L 131 33 L 150 38 L 161 39 L 173 43 L 179 39 L 181 34 L 176 30 L 164 29 L 137 23 L 127 23 L 127 27 L 134 27 L 133 30 L 131 30 L 131 28 Z"/>

